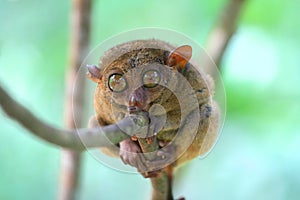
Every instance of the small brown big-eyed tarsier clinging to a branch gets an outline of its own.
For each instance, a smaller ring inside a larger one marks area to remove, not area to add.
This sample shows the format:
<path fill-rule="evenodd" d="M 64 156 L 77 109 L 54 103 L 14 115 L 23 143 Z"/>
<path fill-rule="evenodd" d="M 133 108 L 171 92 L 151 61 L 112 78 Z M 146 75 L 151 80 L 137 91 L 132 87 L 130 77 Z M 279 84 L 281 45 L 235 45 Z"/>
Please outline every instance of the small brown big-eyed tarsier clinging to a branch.
<path fill-rule="evenodd" d="M 97 83 L 96 115 L 90 126 L 114 124 L 136 111 L 150 112 L 153 105 L 163 108 L 152 110 L 153 115 L 166 116 L 164 122 L 150 122 L 162 123 L 153 128 L 155 134 L 149 139 L 151 143 L 155 137 L 159 144 L 155 159 L 149 161 L 143 156 L 137 137 L 101 151 L 119 156 L 145 177 L 153 179 L 165 170 L 171 184 L 174 167 L 212 148 L 219 128 L 219 109 L 212 100 L 214 82 L 197 70 L 201 66 L 191 64 L 191 57 L 189 45 L 174 47 L 160 40 L 136 40 L 106 51 L 99 68 L 88 66 L 88 77 Z M 170 189 L 168 195 L 172 199 Z"/>

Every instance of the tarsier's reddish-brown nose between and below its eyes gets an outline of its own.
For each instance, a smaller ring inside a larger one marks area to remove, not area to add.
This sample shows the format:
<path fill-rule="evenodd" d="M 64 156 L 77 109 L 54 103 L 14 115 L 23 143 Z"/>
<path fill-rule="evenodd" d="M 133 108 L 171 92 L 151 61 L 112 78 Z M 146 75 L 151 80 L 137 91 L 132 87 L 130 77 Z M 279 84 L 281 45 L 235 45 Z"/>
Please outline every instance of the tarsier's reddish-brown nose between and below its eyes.
<path fill-rule="evenodd" d="M 128 112 L 145 111 L 147 107 L 146 102 L 145 91 L 142 88 L 136 89 L 129 96 Z"/>

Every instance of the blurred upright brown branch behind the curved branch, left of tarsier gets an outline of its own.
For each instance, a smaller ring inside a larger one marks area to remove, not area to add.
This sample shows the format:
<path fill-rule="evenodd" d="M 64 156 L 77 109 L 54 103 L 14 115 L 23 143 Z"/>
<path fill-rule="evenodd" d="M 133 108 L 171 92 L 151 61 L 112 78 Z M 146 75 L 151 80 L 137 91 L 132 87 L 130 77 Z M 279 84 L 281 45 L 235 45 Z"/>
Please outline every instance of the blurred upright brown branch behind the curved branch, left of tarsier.
<path fill-rule="evenodd" d="M 64 124 L 66 128 L 75 129 L 83 126 L 79 113 L 84 112 L 84 80 L 79 79 L 76 90 L 73 90 L 76 73 L 87 53 L 90 36 L 91 0 L 72 0 L 69 60 L 66 72 Z M 72 112 L 76 107 L 77 113 Z M 73 118 L 74 117 L 74 118 Z M 76 126 L 75 122 L 76 121 Z M 61 157 L 61 174 L 59 182 L 59 200 L 76 199 L 80 176 L 81 154 L 64 149 Z"/>

